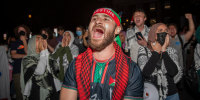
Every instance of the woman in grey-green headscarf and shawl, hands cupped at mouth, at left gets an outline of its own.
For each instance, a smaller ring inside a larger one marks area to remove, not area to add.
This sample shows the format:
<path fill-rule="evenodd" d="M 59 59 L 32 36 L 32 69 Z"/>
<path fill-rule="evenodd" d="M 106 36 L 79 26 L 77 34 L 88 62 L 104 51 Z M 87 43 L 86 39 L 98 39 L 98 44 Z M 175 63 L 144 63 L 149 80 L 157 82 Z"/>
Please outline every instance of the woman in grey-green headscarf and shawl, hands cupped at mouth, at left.
<path fill-rule="evenodd" d="M 41 35 L 33 36 L 28 43 L 28 54 L 22 60 L 20 92 L 24 99 L 58 100 L 61 88 L 58 72 L 57 62 L 47 50 L 47 41 Z"/>

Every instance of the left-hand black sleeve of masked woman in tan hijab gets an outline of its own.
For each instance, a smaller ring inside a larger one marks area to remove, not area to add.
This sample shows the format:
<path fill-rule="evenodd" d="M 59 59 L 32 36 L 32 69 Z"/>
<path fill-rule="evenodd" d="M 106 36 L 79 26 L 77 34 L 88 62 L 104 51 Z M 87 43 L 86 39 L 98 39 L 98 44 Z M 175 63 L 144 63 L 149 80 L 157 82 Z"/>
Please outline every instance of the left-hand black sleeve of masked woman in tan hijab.
<path fill-rule="evenodd" d="M 155 67 L 157 66 L 156 63 L 158 62 L 159 59 L 160 59 L 160 54 L 153 51 L 152 56 L 149 58 L 148 62 L 146 63 L 143 69 L 143 76 L 145 79 L 149 78 L 150 75 L 153 73 Z"/>

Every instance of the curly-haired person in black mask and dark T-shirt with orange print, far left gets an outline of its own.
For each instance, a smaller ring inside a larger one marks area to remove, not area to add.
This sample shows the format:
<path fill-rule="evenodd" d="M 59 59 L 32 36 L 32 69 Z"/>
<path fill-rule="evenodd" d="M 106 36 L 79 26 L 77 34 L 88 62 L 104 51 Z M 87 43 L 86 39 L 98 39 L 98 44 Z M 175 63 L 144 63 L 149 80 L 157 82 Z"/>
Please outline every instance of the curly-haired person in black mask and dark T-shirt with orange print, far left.
<path fill-rule="evenodd" d="M 22 100 L 20 88 L 21 61 L 27 54 L 27 36 L 30 33 L 26 25 L 17 26 L 14 29 L 16 41 L 11 44 L 11 57 L 13 59 L 13 81 L 16 92 L 16 100 Z"/>

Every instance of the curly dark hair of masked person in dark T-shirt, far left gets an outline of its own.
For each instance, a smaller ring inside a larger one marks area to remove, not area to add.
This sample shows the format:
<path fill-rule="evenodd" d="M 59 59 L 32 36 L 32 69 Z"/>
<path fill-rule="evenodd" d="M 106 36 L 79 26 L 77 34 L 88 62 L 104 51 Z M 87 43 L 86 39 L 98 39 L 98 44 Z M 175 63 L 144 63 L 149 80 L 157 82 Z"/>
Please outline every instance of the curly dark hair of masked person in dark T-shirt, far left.
<path fill-rule="evenodd" d="M 19 38 L 19 36 L 20 36 L 18 33 L 19 27 L 23 27 L 26 30 L 26 36 L 28 36 L 30 34 L 30 28 L 28 26 L 22 24 L 22 25 L 19 25 L 14 28 L 14 33 L 15 33 L 16 38 Z"/>

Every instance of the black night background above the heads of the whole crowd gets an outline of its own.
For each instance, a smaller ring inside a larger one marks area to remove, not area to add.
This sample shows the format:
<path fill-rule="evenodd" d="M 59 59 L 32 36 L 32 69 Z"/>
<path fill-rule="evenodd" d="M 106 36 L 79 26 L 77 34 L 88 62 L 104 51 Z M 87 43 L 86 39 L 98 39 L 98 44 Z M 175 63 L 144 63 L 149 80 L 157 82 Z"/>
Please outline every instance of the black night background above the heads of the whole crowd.
<path fill-rule="evenodd" d="M 33 33 L 57 26 L 74 32 L 78 25 L 87 27 L 93 11 L 99 7 L 121 12 L 125 30 L 136 8 L 145 10 L 148 26 L 153 22 L 174 22 L 182 27 L 186 12 L 193 14 L 196 25 L 200 18 L 200 0 L 3 0 L 0 34 L 12 35 L 13 29 L 20 24 L 29 26 Z"/>

